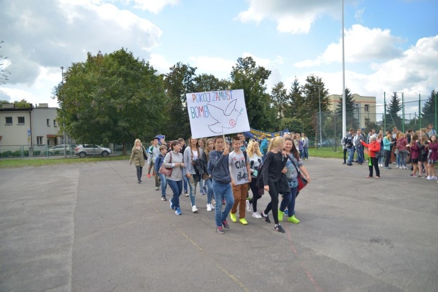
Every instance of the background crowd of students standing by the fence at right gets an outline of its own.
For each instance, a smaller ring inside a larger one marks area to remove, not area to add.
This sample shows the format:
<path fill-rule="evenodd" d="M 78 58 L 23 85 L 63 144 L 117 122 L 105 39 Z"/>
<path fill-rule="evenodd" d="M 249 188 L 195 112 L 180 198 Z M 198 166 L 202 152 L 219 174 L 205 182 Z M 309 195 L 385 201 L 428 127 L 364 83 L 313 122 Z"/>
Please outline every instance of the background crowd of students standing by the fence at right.
<path fill-rule="evenodd" d="M 438 164 L 438 142 L 432 124 L 416 132 L 409 129 L 406 133 L 393 127 L 392 131 L 386 131 L 385 135 L 382 130 L 376 133 L 373 129 L 367 136 L 368 143 L 365 140 L 360 129 L 356 132 L 350 129 L 346 133 L 341 140 L 343 164 L 352 166 L 352 162 L 356 162 L 361 165 L 364 162 L 363 147 L 368 147 L 370 173 L 367 177 L 373 177 L 374 168 L 376 178 L 380 178 L 379 167 L 390 170 L 392 163 L 396 165 L 396 169 L 409 169 L 411 171 L 409 177 L 438 180 L 435 168 Z M 354 160 L 354 153 L 356 153 L 356 160 Z"/>

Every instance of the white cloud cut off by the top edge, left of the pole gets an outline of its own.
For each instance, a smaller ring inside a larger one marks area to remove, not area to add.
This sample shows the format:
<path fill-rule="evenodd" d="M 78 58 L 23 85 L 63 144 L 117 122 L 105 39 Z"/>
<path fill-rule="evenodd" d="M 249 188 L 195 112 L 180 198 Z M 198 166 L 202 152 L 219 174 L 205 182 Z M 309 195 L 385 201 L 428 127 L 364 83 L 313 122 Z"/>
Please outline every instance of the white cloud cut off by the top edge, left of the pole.
<path fill-rule="evenodd" d="M 270 19 L 277 22 L 277 29 L 281 32 L 308 33 L 320 15 L 336 15 L 340 9 L 337 0 L 249 0 L 248 9 L 240 12 L 237 19 L 244 23 Z"/>

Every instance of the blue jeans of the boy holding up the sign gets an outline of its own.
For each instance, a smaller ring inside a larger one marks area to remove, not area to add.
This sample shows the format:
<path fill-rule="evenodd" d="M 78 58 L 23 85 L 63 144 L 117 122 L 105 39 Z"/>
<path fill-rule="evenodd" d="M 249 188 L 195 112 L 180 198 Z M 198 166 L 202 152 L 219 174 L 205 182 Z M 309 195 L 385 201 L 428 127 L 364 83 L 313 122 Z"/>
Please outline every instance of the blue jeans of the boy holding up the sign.
<path fill-rule="evenodd" d="M 221 182 L 214 180 L 212 181 L 214 198 L 217 202 L 215 209 L 215 221 L 216 226 L 221 227 L 222 221 L 227 219 L 228 213 L 233 207 L 234 197 L 233 192 L 231 190 L 231 184 L 227 182 L 226 184 L 222 184 Z M 225 199 L 225 209 L 222 211 L 222 200 Z"/>

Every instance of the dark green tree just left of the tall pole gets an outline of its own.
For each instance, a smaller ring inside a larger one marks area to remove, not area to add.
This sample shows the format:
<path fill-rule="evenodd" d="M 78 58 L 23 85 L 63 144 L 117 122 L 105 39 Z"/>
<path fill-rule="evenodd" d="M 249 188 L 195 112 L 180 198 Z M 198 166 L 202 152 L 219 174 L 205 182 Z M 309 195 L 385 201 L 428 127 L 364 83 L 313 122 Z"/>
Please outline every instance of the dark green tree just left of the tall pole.
<path fill-rule="evenodd" d="M 319 113 L 320 103 L 321 112 L 326 112 L 328 109 L 328 89 L 325 89 L 324 86 L 320 77 L 309 75 L 306 78 L 306 84 L 302 87 L 305 99 L 297 107 L 297 117 L 303 121 L 304 132 L 309 137 L 316 136 L 316 133 L 319 132 L 319 114 L 317 115 L 317 113 Z"/>

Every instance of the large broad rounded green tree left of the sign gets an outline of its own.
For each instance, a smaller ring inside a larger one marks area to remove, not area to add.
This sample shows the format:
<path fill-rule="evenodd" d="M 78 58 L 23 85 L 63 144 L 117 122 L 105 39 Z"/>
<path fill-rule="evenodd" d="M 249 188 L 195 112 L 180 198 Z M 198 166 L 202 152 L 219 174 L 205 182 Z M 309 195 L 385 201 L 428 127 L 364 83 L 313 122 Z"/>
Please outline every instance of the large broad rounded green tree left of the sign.
<path fill-rule="evenodd" d="M 64 80 L 53 90 L 59 122 L 78 142 L 125 145 L 155 135 L 166 121 L 162 76 L 124 48 L 88 53 L 85 62 L 65 71 Z"/>

